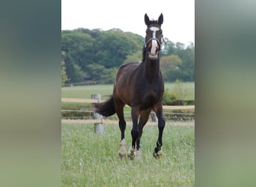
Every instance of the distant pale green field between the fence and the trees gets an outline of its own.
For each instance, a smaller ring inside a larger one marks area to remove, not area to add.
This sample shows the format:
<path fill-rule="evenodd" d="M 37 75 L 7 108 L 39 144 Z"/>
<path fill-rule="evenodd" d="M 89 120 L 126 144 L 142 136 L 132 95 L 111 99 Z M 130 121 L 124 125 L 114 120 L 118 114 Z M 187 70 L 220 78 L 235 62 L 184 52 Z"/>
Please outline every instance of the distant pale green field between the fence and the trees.
<path fill-rule="evenodd" d="M 185 99 L 195 98 L 195 82 L 181 83 L 181 86 L 186 90 Z M 165 89 L 168 91 L 174 91 L 175 83 L 165 83 Z M 86 85 L 86 86 L 75 86 L 75 87 L 64 87 L 61 88 L 61 97 L 69 98 L 82 98 L 89 99 L 91 94 L 100 93 L 102 99 L 106 99 L 112 94 L 113 85 Z"/>

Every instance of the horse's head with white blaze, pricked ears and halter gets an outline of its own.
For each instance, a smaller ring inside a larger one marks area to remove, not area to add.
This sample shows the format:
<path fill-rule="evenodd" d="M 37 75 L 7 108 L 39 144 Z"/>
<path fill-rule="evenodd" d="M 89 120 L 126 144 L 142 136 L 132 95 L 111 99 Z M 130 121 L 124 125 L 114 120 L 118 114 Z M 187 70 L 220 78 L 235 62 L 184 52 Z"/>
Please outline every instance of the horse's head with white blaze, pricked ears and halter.
<path fill-rule="evenodd" d="M 157 20 L 150 20 L 147 13 L 145 13 L 144 21 L 147 25 L 144 49 L 147 49 L 147 55 L 150 59 L 157 59 L 159 58 L 163 38 L 161 29 L 163 22 L 162 13 Z"/>

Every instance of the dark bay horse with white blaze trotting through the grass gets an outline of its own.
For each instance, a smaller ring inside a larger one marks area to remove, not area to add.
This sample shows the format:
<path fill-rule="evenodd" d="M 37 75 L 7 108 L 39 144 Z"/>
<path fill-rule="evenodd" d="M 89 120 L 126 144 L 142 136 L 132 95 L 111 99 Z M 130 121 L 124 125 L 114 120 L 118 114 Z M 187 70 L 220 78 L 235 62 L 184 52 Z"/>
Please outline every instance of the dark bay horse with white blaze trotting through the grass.
<path fill-rule="evenodd" d="M 158 117 L 159 137 L 153 152 L 153 156 L 156 158 L 162 156 L 162 132 L 165 127 L 165 119 L 162 116 L 164 82 L 159 69 L 159 55 L 163 39 L 161 29 L 162 13 L 158 20 L 150 20 L 146 13 L 144 22 L 147 25 L 147 31 L 142 62 L 130 62 L 121 65 L 116 75 L 113 94 L 110 99 L 94 105 L 95 111 L 103 116 L 118 114 L 119 127 L 121 129 L 121 150 L 119 155 L 121 157 L 127 155 L 130 159 L 133 159 L 134 156 L 139 159 L 141 156 L 140 138 L 151 110 L 155 111 Z M 124 105 L 126 104 L 132 108 L 132 145 L 128 154 L 124 139 L 124 131 L 126 129 Z"/>

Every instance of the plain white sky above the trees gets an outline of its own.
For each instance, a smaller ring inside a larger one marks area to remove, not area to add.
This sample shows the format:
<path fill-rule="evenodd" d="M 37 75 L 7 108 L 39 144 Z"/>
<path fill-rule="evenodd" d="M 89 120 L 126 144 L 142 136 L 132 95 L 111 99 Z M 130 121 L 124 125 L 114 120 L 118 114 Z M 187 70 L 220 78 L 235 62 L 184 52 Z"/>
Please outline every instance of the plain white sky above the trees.
<path fill-rule="evenodd" d="M 195 43 L 194 0 L 61 0 L 61 30 L 120 28 L 145 37 L 144 14 L 158 19 L 162 33 L 174 43 Z"/>

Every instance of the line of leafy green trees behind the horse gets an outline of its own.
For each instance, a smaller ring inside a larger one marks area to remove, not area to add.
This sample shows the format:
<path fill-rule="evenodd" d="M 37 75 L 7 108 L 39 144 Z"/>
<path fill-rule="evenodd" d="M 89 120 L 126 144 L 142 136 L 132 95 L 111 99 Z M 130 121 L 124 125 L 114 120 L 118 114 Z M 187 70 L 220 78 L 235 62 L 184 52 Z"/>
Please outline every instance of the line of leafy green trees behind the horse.
<path fill-rule="evenodd" d="M 112 84 L 121 64 L 141 61 L 144 37 L 118 28 L 109 31 L 78 28 L 61 31 L 61 82 Z M 185 46 L 165 38 L 161 51 L 165 82 L 194 82 L 194 43 Z"/>

